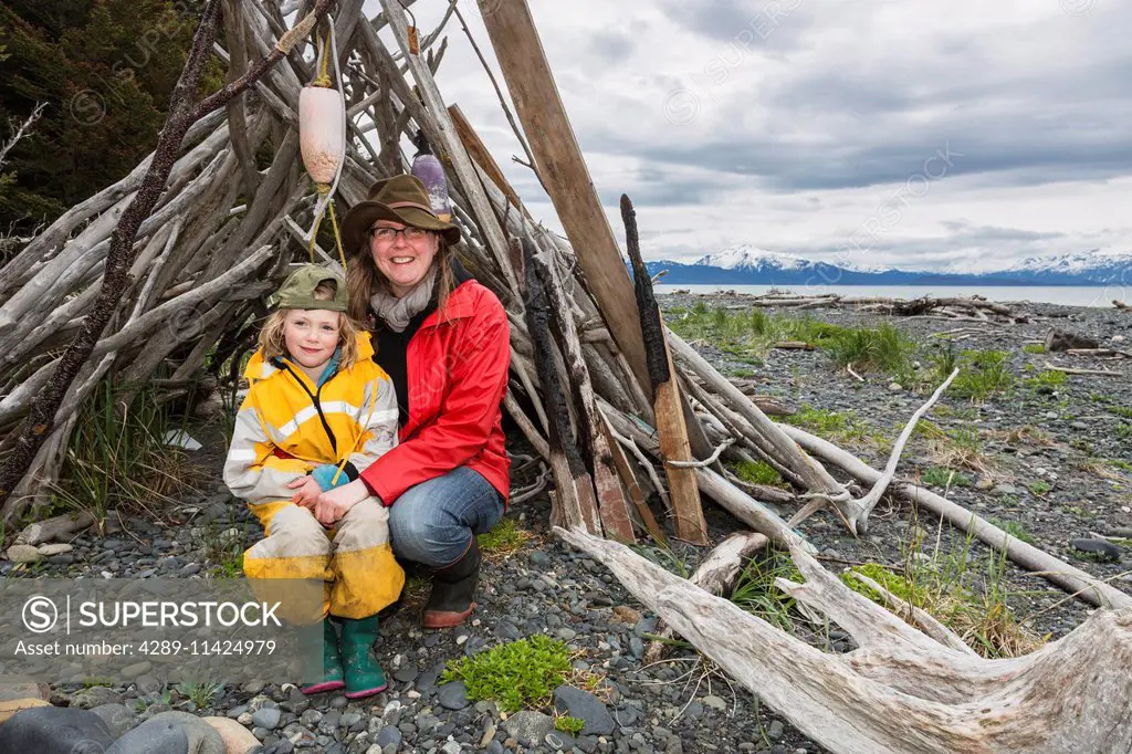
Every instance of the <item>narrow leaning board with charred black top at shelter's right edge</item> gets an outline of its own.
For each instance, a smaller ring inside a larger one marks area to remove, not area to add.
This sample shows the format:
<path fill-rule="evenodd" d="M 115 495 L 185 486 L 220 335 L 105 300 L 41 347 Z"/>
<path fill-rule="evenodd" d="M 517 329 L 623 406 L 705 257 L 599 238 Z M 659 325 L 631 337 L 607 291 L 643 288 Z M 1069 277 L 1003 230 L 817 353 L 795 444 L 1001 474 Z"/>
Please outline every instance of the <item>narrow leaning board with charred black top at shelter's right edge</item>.
<path fill-rule="evenodd" d="M 652 281 L 641 258 L 637 242 L 636 212 L 629 198 L 621 195 L 621 221 L 625 223 L 625 245 L 633 263 L 634 294 L 641 316 L 641 333 L 645 344 L 645 361 L 649 365 L 649 383 L 652 385 L 652 405 L 657 414 L 657 431 L 660 434 L 660 452 L 664 457 L 664 474 L 668 477 L 669 494 L 672 496 L 672 517 L 676 520 L 676 535 L 696 545 L 707 543 L 707 524 L 704 522 L 703 505 L 696 487 L 695 472 L 687 466 L 676 466 L 669 461 L 692 461 L 684 406 L 680 401 L 679 380 L 672 354 L 664 339 L 664 324 L 652 293 Z"/>

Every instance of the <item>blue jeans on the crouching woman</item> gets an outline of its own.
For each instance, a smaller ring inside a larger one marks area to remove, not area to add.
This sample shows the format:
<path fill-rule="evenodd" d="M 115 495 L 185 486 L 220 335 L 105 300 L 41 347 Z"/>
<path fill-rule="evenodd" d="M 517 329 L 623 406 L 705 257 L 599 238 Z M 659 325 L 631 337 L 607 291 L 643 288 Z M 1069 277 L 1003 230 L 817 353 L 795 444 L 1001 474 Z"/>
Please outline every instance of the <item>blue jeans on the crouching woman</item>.
<path fill-rule="evenodd" d="M 393 554 L 431 568 L 452 565 L 468 550 L 474 534 L 503 517 L 503 498 L 495 487 L 465 466 L 405 490 L 389 507 Z"/>

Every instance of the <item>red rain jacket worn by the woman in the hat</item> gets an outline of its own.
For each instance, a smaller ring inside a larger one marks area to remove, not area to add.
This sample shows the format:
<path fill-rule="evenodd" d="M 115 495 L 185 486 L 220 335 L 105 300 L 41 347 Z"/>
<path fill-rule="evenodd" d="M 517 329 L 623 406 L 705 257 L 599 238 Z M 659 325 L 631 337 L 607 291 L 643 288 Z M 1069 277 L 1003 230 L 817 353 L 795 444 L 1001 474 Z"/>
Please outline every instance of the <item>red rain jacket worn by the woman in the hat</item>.
<path fill-rule="evenodd" d="M 511 331 L 499 299 L 474 280 L 461 283 L 409 341 L 405 367 L 409 420 L 400 444 L 362 472 L 370 492 L 393 505 L 413 485 L 468 466 L 506 503 L 503 399 Z"/>

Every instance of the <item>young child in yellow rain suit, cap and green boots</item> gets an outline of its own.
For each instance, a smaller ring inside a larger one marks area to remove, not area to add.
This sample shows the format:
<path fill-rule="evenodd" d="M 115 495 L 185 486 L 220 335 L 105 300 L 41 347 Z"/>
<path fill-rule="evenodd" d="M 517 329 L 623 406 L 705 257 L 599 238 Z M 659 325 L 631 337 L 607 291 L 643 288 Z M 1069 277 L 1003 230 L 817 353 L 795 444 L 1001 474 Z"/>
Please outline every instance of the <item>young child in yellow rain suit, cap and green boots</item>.
<path fill-rule="evenodd" d="M 277 298 L 243 372 L 250 389 L 224 482 L 267 534 L 245 552 L 245 575 L 254 583 L 324 582 L 321 615 L 306 618 L 323 623 L 324 672 L 302 691 L 345 687 L 348 697 L 361 699 L 386 686 L 369 650 L 377 612 L 397 599 L 405 576 L 389 547 L 385 506 L 372 497 L 352 506 L 318 497 L 396 445 L 396 394 L 374 362 L 369 333 L 345 314 L 346 286 L 334 273 L 303 266 Z"/>

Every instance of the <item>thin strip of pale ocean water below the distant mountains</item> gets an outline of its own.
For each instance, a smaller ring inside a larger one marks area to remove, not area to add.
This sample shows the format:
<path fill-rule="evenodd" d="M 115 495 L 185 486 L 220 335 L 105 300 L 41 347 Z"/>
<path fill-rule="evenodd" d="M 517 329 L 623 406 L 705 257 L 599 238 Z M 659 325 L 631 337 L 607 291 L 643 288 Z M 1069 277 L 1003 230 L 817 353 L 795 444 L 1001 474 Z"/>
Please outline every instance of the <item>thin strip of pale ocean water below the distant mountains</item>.
<path fill-rule="evenodd" d="M 921 295 L 932 298 L 954 298 L 981 295 L 989 301 L 1031 301 L 1039 303 L 1060 303 L 1072 307 L 1112 307 L 1113 300 L 1132 305 L 1132 286 L 1058 286 L 1058 285 L 666 285 L 653 286 L 657 293 L 675 293 L 689 291 L 692 293 L 718 293 L 735 291 L 736 293 L 761 294 L 772 288 L 778 291 L 790 291 L 799 295 L 821 295 L 837 293 L 846 297 L 885 297 L 891 299 L 918 299 Z"/>

